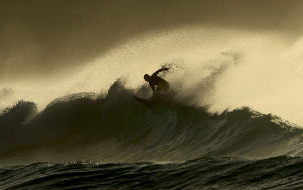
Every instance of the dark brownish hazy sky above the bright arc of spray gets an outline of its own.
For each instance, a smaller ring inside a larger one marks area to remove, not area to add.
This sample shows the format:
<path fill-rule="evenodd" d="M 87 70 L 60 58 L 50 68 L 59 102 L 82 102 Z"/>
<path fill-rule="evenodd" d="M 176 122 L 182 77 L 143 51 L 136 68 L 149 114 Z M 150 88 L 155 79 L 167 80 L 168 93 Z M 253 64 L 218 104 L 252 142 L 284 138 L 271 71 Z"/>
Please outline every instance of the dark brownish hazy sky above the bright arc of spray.
<path fill-rule="evenodd" d="M 301 35 L 303 1 L 0 1 L 0 76 L 80 65 L 155 28 L 214 24 Z"/>

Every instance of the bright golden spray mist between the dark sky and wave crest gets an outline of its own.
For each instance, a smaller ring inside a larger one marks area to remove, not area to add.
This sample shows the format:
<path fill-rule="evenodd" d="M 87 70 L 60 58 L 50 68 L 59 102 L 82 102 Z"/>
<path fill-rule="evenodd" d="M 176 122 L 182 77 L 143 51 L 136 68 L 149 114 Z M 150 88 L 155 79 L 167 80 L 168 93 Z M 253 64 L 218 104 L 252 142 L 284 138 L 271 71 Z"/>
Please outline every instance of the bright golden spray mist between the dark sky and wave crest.
<path fill-rule="evenodd" d="M 147 86 L 144 74 L 165 66 L 170 72 L 163 78 L 184 104 L 208 104 L 219 113 L 252 106 L 302 124 L 302 47 L 301 38 L 277 31 L 206 24 L 154 30 L 116 43 L 82 66 L 7 83 L 1 107 L 23 99 L 42 110 L 63 95 L 106 92 L 120 77 L 129 88 Z"/>

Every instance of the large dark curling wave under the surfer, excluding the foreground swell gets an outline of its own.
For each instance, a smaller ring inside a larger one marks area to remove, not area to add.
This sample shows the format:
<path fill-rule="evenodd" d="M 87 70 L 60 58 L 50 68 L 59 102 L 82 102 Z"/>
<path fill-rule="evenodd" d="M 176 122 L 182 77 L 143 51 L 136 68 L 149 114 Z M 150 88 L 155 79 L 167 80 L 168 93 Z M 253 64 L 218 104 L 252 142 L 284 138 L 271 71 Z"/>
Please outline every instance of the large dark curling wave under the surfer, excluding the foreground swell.
<path fill-rule="evenodd" d="M 96 160 L 184 161 L 202 157 L 268 158 L 301 155 L 303 129 L 248 107 L 210 114 L 163 95 L 150 110 L 133 99 L 145 88 L 117 80 L 107 94 L 78 93 L 42 112 L 18 102 L 0 116 L 2 163 Z M 145 97 L 146 98 L 146 97 Z"/>

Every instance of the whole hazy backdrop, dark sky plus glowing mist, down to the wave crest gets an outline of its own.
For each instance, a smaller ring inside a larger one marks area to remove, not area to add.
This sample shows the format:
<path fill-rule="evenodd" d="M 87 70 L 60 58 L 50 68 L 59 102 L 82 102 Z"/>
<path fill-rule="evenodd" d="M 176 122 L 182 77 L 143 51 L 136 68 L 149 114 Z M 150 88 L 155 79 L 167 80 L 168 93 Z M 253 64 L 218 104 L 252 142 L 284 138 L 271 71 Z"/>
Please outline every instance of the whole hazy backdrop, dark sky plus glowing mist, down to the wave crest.
<path fill-rule="evenodd" d="M 120 76 L 144 84 L 170 62 L 184 66 L 166 76 L 182 84 L 182 101 L 303 124 L 302 10 L 302 0 L 0 0 L 0 90 L 9 88 L 0 108 L 19 99 L 43 108 Z"/>

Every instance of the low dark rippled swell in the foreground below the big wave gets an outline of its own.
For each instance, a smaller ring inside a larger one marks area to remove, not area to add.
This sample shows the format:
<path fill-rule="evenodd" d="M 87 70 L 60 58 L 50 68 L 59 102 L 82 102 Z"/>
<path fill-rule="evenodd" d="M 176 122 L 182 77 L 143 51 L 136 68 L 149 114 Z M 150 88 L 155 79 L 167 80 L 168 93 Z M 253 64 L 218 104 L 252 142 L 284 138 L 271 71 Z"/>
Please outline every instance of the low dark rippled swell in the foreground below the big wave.
<path fill-rule="evenodd" d="M 0 168 L 1 189 L 302 189 L 302 157 L 47 162 Z"/>

